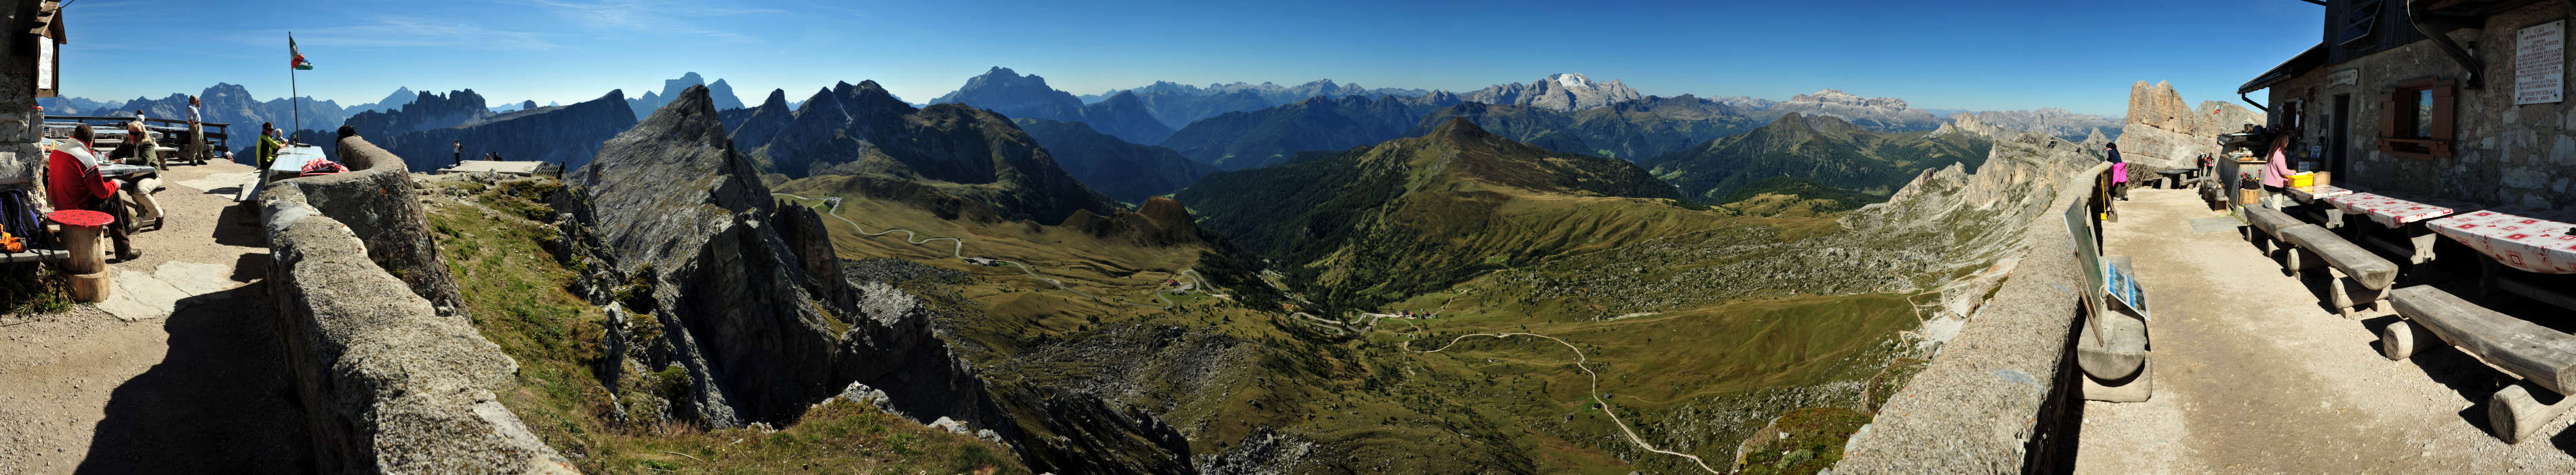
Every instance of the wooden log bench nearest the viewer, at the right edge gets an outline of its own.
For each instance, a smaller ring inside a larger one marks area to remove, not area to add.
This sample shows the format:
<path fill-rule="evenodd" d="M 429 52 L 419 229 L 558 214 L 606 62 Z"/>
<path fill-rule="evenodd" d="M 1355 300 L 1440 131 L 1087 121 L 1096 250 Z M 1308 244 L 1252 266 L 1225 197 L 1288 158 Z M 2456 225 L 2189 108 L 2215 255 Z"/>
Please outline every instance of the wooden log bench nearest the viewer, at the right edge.
<path fill-rule="evenodd" d="M 2406 320 L 2380 330 L 2383 356 L 2409 359 L 2439 338 L 2522 379 L 2486 400 L 2486 421 L 2496 439 L 2506 444 L 2535 439 L 2543 426 L 2576 408 L 2568 398 L 2540 403 L 2527 390 L 2540 387 L 2558 395 L 2576 390 L 2571 387 L 2576 385 L 2576 336 L 2470 305 L 2434 287 L 2396 289 L 2388 302 L 2396 302 Z"/>

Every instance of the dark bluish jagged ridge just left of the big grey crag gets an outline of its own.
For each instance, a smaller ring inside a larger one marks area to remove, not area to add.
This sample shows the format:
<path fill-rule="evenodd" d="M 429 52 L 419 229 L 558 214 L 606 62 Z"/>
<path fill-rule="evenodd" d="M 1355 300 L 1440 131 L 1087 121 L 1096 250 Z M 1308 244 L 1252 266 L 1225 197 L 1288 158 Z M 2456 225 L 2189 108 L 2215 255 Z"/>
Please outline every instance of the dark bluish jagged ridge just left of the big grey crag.
<path fill-rule="evenodd" d="M 438 170 L 453 165 L 456 145 L 464 142 L 466 160 L 500 152 L 502 160 L 556 163 L 564 170 L 582 168 L 600 152 L 600 142 L 634 126 L 621 90 L 572 103 L 510 111 L 474 119 L 459 126 L 422 129 L 381 137 L 386 150 L 410 160 L 412 170 Z"/>

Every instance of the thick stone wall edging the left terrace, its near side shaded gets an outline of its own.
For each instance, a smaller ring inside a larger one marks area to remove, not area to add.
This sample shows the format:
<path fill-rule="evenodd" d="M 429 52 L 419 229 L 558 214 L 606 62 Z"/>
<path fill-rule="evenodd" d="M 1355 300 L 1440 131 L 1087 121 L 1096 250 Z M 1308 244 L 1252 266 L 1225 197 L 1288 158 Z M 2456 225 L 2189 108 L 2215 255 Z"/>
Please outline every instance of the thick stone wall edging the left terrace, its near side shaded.
<path fill-rule="evenodd" d="M 340 147 L 345 157 L 381 152 L 355 137 Z M 312 423 L 314 470 L 574 472 L 495 400 L 515 382 L 518 361 L 422 297 L 420 281 L 446 279 L 446 268 L 428 268 L 435 253 L 410 261 L 420 256 L 386 250 L 407 243 L 397 232 L 420 232 L 402 160 L 350 165 L 358 170 L 260 191 L 276 258 L 268 299 Z M 425 243 L 425 232 L 417 237 Z M 399 266 L 422 268 L 404 281 L 389 271 Z"/>

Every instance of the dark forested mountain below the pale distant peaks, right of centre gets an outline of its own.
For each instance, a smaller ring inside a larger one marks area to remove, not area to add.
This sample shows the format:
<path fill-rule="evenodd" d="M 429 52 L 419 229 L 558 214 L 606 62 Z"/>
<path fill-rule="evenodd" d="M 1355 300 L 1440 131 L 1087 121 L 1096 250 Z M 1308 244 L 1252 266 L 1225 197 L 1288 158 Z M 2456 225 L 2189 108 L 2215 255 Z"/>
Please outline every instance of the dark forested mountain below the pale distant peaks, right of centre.
<path fill-rule="evenodd" d="M 1672 181 L 1695 201 L 1731 201 L 1767 178 L 1798 178 L 1829 188 L 1888 196 L 1927 168 L 1986 160 L 1994 139 L 1981 134 L 1875 132 L 1837 116 L 1783 114 L 1744 134 L 1646 157 L 1638 165 Z M 1772 186 L 1785 186 L 1772 181 Z"/>

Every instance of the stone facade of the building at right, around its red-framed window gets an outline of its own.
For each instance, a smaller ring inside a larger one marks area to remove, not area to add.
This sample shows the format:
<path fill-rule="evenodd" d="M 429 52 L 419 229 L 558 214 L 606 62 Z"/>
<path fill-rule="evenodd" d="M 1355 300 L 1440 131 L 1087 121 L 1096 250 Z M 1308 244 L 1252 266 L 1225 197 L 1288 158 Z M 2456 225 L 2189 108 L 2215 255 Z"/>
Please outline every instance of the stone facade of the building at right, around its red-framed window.
<path fill-rule="evenodd" d="M 2576 90 L 2563 90 L 2571 101 L 2514 106 L 2514 34 L 2558 18 L 2568 18 L 2566 3 L 2532 3 L 2486 18 L 2486 28 L 2450 31 L 2452 41 L 2476 44 L 2476 57 L 2486 62 L 2486 88 L 2468 88 L 2465 70 L 2434 41 L 2416 41 L 2272 85 L 2269 103 L 2280 111 L 2282 103 L 2306 101 L 2303 132 L 2316 137 L 2308 142 L 2326 145 L 2334 96 L 2352 98 L 2349 168 L 2334 183 L 2494 207 L 2576 207 Z M 2344 70 L 2357 80 L 2334 85 L 2331 75 Z M 2563 75 L 2563 88 L 2576 88 L 2576 67 Z M 2378 147 L 2380 90 L 2416 77 L 2460 80 L 2452 157 L 2398 157 Z"/>

